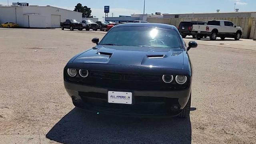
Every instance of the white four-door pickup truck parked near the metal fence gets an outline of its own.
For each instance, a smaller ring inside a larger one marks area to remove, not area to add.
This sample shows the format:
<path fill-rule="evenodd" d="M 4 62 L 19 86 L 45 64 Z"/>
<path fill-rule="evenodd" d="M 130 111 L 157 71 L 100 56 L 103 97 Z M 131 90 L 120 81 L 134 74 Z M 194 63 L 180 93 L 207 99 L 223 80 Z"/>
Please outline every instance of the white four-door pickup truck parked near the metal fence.
<path fill-rule="evenodd" d="M 228 20 L 209 20 L 207 25 L 193 25 L 191 33 L 198 40 L 207 36 L 210 36 L 211 40 L 216 40 L 217 37 L 220 37 L 222 40 L 225 38 L 239 40 L 242 36 L 242 30 L 241 27 Z"/>

